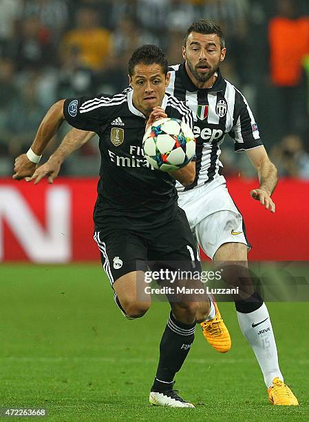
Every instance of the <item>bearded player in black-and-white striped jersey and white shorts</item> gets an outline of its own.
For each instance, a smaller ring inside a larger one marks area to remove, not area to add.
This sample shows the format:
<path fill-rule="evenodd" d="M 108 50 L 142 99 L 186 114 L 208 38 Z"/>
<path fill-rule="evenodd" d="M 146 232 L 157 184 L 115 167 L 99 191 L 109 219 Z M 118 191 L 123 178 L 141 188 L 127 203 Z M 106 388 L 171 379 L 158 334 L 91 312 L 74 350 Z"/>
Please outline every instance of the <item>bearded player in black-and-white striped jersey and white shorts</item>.
<path fill-rule="evenodd" d="M 177 183 L 178 203 L 187 213 L 191 230 L 204 252 L 221 266 L 228 263 L 226 282 L 242 290 L 235 297 L 237 317 L 263 372 L 270 403 L 298 405 L 290 388 L 284 385 L 268 310 L 250 281 L 250 245 L 242 214 L 221 175 L 220 145 L 228 133 L 234 140 L 235 152 L 246 151 L 257 170 L 259 187 L 251 190 L 251 197 L 275 212 L 271 194 L 277 184 L 277 169 L 268 159 L 246 99 L 222 77 L 219 66 L 225 54 L 220 26 L 201 19 L 187 30 L 182 47 L 184 63 L 169 68 L 167 92 L 193 111 L 197 141 L 195 180 L 186 188 Z M 249 284 L 244 285 L 241 280 Z M 201 325 L 206 328 L 209 324 L 205 321 Z"/>

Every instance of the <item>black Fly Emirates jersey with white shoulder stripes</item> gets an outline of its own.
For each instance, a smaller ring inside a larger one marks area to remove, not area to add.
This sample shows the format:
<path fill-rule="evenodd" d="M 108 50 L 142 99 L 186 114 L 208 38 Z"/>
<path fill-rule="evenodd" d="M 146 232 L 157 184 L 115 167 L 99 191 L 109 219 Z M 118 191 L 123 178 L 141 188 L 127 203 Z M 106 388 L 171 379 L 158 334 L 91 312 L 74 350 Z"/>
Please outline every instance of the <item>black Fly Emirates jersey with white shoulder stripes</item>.
<path fill-rule="evenodd" d="M 114 97 L 67 99 L 65 119 L 74 128 L 92 130 L 100 138 L 98 201 L 94 210 L 96 230 L 102 224 L 129 219 L 132 230 L 153 226 L 175 212 L 177 191 L 168 173 L 153 170 L 142 151 L 144 114 L 134 107 L 131 88 Z M 169 117 L 185 121 L 193 129 L 192 111 L 165 94 L 162 108 Z M 173 206 L 174 205 L 174 206 Z M 126 220 L 127 221 L 127 220 Z"/>

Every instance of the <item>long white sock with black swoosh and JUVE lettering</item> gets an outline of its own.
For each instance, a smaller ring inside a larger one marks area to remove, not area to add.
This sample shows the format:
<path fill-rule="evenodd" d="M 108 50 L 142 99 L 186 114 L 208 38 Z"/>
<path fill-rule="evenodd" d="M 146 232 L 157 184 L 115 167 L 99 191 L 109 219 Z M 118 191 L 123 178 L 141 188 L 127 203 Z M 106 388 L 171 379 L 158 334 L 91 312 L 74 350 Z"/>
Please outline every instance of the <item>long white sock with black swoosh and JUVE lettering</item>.
<path fill-rule="evenodd" d="M 242 334 L 244 334 L 251 344 L 253 352 L 255 352 L 255 356 L 264 375 L 266 387 L 268 388 L 272 385 L 273 379 L 276 376 L 284 381 L 284 377 L 279 369 L 273 327 L 265 303 L 263 303 L 261 308 L 249 314 L 237 312 L 237 318 Z"/>

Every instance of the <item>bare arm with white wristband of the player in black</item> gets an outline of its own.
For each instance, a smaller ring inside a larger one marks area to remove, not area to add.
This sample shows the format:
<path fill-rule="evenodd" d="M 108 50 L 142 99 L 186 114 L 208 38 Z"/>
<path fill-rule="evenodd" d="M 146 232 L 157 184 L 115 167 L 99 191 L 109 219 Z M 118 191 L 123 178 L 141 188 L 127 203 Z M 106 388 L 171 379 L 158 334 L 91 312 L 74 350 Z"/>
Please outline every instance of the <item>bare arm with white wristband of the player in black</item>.
<path fill-rule="evenodd" d="M 63 114 L 64 101 L 60 100 L 54 103 L 41 121 L 39 130 L 36 132 L 36 137 L 31 145 L 31 150 L 37 157 L 42 154 L 46 145 L 54 137 L 54 134 L 56 134 L 65 119 Z M 26 176 L 32 176 L 35 169 L 36 163 L 30 161 L 26 154 L 21 154 L 15 159 L 13 179 L 20 180 Z"/>

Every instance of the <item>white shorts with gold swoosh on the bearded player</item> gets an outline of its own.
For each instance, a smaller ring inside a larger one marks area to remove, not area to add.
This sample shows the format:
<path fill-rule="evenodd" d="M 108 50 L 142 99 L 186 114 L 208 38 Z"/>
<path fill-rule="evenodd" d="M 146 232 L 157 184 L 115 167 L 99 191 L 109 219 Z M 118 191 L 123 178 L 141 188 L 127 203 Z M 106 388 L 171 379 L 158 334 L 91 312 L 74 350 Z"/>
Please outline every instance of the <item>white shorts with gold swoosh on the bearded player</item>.
<path fill-rule="evenodd" d="M 250 249 L 242 214 L 225 182 L 209 183 L 178 195 L 178 205 L 186 212 L 193 235 L 209 258 L 213 259 L 224 243 L 244 243 Z"/>

